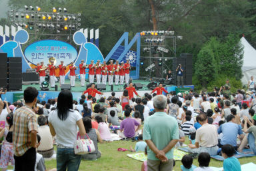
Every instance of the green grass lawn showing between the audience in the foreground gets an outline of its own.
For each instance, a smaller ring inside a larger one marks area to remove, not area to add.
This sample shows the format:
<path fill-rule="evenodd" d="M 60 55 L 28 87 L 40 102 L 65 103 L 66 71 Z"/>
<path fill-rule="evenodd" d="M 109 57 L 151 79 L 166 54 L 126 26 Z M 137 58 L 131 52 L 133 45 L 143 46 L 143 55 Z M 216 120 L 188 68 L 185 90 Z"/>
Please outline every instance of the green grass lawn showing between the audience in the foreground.
<path fill-rule="evenodd" d="M 188 140 L 186 138 L 186 144 L 188 143 Z M 101 151 L 102 155 L 101 158 L 99 158 L 96 161 L 87 161 L 87 160 L 81 160 L 80 168 L 79 170 L 141 170 L 141 164 L 142 162 L 139 162 L 138 160 L 134 160 L 132 158 L 129 158 L 126 156 L 126 154 L 129 154 L 131 152 L 118 152 L 117 148 L 127 148 L 129 149 L 129 146 L 135 146 L 136 142 L 131 141 L 115 141 L 110 143 L 103 143 L 98 144 L 99 150 Z M 239 158 L 239 162 L 241 164 L 245 164 L 248 162 L 253 162 L 256 164 L 256 156 L 255 157 L 249 157 L 249 158 Z M 47 166 L 47 170 L 51 168 L 56 168 L 56 160 L 48 160 L 45 161 L 45 164 Z M 193 164 L 195 166 L 198 166 L 197 159 L 194 159 Z M 173 170 L 181 170 L 181 161 L 176 161 L 176 166 Z M 220 162 L 218 160 L 211 159 L 210 166 L 215 167 L 222 167 L 223 162 Z"/>

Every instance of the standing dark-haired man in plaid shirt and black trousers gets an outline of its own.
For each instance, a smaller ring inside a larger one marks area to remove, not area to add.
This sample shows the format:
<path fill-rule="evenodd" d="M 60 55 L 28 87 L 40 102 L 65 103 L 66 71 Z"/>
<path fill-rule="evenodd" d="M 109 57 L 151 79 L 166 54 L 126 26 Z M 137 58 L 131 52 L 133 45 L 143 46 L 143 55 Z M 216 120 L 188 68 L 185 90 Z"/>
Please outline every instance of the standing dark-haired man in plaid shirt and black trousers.
<path fill-rule="evenodd" d="M 13 116 L 13 150 L 15 170 L 34 170 L 37 156 L 37 116 L 33 108 L 37 103 L 35 87 L 24 90 L 25 105 L 17 108 Z"/>

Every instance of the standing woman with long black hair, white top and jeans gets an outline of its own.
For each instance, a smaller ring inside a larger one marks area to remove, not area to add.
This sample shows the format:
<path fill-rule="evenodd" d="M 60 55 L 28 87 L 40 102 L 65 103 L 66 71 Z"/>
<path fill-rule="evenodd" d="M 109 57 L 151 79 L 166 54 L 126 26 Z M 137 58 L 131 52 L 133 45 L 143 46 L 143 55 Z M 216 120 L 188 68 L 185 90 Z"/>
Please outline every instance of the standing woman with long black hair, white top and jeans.
<path fill-rule="evenodd" d="M 81 114 L 73 110 L 73 96 L 70 90 L 62 90 L 58 96 L 57 109 L 49 114 L 51 135 L 56 135 L 57 170 L 79 170 L 81 155 L 74 152 L 77 140 L 77 126 L 81 136 L 85 136 L 85 127 Z"/>

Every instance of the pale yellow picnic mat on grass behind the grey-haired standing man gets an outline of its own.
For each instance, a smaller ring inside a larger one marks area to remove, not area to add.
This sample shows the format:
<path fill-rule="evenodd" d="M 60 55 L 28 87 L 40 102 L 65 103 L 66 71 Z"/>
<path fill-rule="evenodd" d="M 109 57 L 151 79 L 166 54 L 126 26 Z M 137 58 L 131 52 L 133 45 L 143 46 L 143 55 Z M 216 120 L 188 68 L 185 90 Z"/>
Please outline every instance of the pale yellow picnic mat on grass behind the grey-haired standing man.
<path fill-rule="evenodd" d="M 173 158 L 174 160 L 181 160 L 181 158 L 187 154 L 187 152 L 183 152 L 181 150 L 177 150 L 177 149 L 174 149 L 174 152 L 173 152 Z M 135 160 L 139 160 L 141 162 L 144 162 L 145 160 L 147 160 L 147 156 L 145 155 L 144 152 L 139 152 L 139 153 L 133 153 L 133 154 L 127 154 L 127 156 L 129 158 L 133 158 Z"/>

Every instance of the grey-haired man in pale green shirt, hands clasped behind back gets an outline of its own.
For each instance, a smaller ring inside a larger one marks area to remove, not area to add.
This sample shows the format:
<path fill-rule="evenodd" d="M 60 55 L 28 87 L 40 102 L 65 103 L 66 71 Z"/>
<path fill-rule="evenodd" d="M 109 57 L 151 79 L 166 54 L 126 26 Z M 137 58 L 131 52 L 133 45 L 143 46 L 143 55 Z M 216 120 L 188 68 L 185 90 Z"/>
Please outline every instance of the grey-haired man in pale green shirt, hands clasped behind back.
<path fill-rule="evenodd" d="M 147 168 L 153 170 L 173 170 L 173 147 L 179 140 L 179 127 L 173 116 L 167 115 L 167 97 L 153 98 L 155 113 L 145 120 L 143 140 L 147 143 Z"/>

